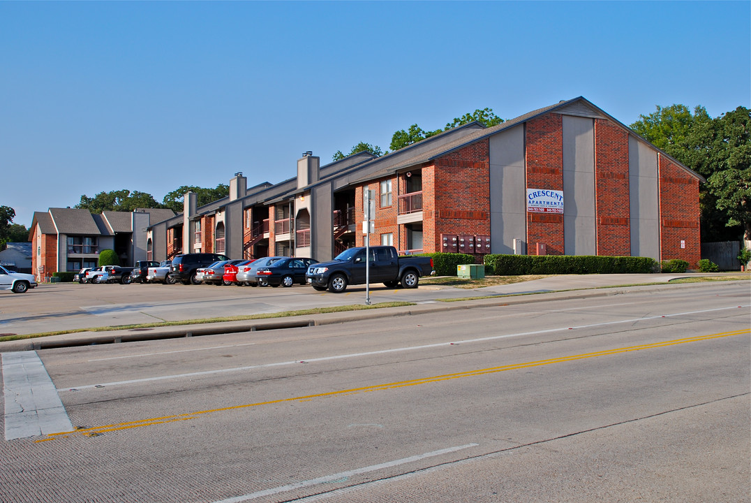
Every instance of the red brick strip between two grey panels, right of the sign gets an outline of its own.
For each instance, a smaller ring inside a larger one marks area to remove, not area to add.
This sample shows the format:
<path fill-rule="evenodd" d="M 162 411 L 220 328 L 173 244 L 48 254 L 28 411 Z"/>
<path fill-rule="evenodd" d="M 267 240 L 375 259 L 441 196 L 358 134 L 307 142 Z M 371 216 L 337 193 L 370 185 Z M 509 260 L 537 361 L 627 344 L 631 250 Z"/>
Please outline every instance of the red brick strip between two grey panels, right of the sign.
<path fill-rule="evenodd" d="M 629 134 L 608 120 L 595 120 L 597 254 L 631 255 Z"/>

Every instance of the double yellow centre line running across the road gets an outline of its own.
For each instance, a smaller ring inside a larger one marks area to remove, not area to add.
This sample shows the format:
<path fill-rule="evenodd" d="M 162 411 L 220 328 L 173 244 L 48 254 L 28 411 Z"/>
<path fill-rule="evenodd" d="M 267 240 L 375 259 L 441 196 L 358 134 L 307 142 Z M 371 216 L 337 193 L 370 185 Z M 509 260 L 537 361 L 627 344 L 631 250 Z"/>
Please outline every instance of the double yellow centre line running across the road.
<path fill-rule="evenodd" d="M 331 397 L 331 396 L 336 396 L 336 395 L 347 395 L 347 394 L 354 394 L 354 393 L 360 393 L 360 392 L 371 392 L 371 391 L 381 391 L 385 389 L 403 388 L 406 386 L 417 386 L 419 384 L 437 383 L 443 380 L 458 379 L 460 377 L 473 377 L 473 376 L 484 375 L 484 374 L 494 374 L 496 372 L 518 370 L 520 368 L 530 368 L 530 367 L 539 367 L 541 365 L 551 365 L 553 363 L 573 362 L 573 361 L 581 360 L 581 359 L 596 358 L 598 356 L 611 356 L 611 355 L 617 355 L 621 353 L 629 353 L 631 351 L 650 350 L 650 349 L 655 349 L 658 347 L 668 347 L 668 346 L 675 346 L 677 344 L 687 344 L 690 342 L 710 341 L 712 339 L 731 337 L 733 335 L 743 335 L 743 334 L 749 334 L 749 333 L 751 333 L 751 329 L 736 330 L 734 332 L 722 332 L 719 334 L 711 334 L 711 335 L 698 335 L 695 337 L 674 339 L 672 341 L 653 342 L 650 344 L 640 344 L 638 346 L 629 346 L 629 347 L 617 347 L 611 350 L 595 351 L 593 353 L 583 353 L 579 355 L 570 355 L 570 356 L 559 356 L 557 358 L 536 360 L 533 362 L 514 363 L 511 365 L 500 365 L 498 367 L 479 368 L 479 369 L 472 370 L 472 371 L 457 372 L 455 374 L 442 374 L 442 375 L 436 375 L 436 376 L 431 376 L 431 377 L 422 377 L 420 379 L 397 381 L 394 383 L 375 384 L 373 386 L 363 386 L 361 388 L 339 389 L 338 391 L 317 393 L 315 395 L 304 395 L 304 396 L 295 396 L 292 398 L 279 398 L 276 400 L 259 401 L 255 404 L 233 405 L 231 407 L 216 408 L 216 409 L 210 409 L 207 411 L 197 411 L 197 412 L 192 412 L 188 414 L 177 414 L 174 416 L 154 417 L 152 419 L 132 421 L 129 423 L 116 423 L 116 424 L 111 424 L 107 426 L 95 426 L 93 428 L 77 429 L 74 432 L 62 432 L 62 433 L 50 434 L 50 435 L 47 435 L 48 438 L 38 440 L 37 442 L 47 441 L 47 440 L 50 440 L 51 438 L 67 438 L 68 436 L 74 435 L 74 434 L 93 436 L 102 432 L 114 432 L 114 431 L 121 430 L 121 429 L 139 428 L 141 426 L 153 426 L 153 425 L 164 424 L 164 423 L 173 423 L 175 421 L 191 420 L 203 414 L 212 414 L 214 412 L 235 411 L 237 409 L 259 407 L 261 405 L 280 404 L 280 403 L 284 403 L 287 401 L 311 401 L 314 398 L 326 398 L 326 397 Z"/>

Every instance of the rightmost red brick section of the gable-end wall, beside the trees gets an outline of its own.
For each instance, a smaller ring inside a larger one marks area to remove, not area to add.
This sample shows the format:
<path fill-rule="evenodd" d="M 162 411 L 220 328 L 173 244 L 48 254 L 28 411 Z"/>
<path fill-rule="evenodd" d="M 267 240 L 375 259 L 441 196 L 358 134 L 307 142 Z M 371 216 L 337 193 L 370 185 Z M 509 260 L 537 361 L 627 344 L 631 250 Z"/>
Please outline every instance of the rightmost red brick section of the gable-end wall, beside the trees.
<path fill-rule="evenodd" d="M 664 155 L 657 156 L 659 171 L 660 256 L 682 259 L 695 268 L 701 259 L 699 238 L 699 183 Z M 681 241 L 685 247 L 681 248 Z"/>

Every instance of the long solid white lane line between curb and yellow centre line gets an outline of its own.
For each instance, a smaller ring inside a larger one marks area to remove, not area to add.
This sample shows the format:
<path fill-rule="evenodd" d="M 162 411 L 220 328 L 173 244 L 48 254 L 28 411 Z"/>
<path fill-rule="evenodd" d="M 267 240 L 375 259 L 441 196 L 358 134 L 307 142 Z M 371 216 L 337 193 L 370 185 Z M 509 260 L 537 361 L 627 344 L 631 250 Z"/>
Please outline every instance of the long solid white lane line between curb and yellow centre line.
<path fill-rule="evenodd" d="M 392 347 L 391 349 L 388 349 L 388 350 L 369 351 L 367 353 L 350 353 L 346 355 L 322 356 L 321 358 L 299 359 L 299 360 L 294 360 L 291 362 L 264 363 L 262 365 L 249 365 L 247 367 L 221 368 L 218 370 L 189 372 L 186 374 L 172 374 L 172 375 L 164 375 L 164 376 L 159 376 L 159 377 L 144 377 L 143 379 L 113 381 L 111 383 L 86 384 L 83 386 L 69 386 L 65 388 L 59 388 L 58 391 L 68 391 L 71 389 L 91 389 L 91 388 L 98 388 L 98 387 L 103 387 L 103 386 L 119 386 L 122 384 L 146 383 L 149 381 L 164 380 L 164 379 L 182 379 L 185 377 L 198 377 L 201 375 L 225 374 L 227 372 L 249 371 L 249 370 L 254 370 L 256 368 L 270 368 L 270 367 L 280 367 L 284 365 L 297 365 L 298 363 L 303 363 L 303 362 L 304 363 L 326 362 L 326 361 L 336 360 L 336 359 L 357 358 L 360 356 L 382 355 L 385 353 L 399 353 L 401 351 L 426 350 L 426 349 L 433 349 L 436 347 L 452 346 L 454 344 L 471 344 L 475 342 L 496 341 L 499 339 L 523 337 L 525 335 L 550 334 L 552 332 L 562 332 L 564 330 L 592 329 L 598 326 L 619 325 L 621 323 L 638 323 L 638 322 L 647 321 L 647 320 L 659 320 L 661 318 L 673 318 L 673 317 L 679 317 L 679 316 L 687 316 L 689 314 L 703 314 L 703 313 L 711 313 L 714 311 L 728 311 L 728 310 L 737 309 L 737 308 L 749 308 L 749 307 L 751 307 L 751 305 L 732 306 L 728 308 L 703 309 L 701 311 L 686 311 L 684 313 L 674 313 L 674 314 L 658 314 L 656 316 L 644 317 L 644 318 L 631 318 L 629 320 L 608 321 L 608 322 L 603 322 L 603 323 L 591 323 L 589 325 L 566 326 L 566 327 L 559 327 L 555 329 L 534 330 L 532 332 L 517 332 L 515 334 L 492 335 L 490 337 L 483 337 L 483 338 L 477 338 L 477 339 L 465 339 L 463 341 L 438 342 L 436 344 L 424 344 L 422 346 Z"/>

